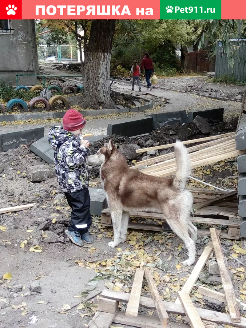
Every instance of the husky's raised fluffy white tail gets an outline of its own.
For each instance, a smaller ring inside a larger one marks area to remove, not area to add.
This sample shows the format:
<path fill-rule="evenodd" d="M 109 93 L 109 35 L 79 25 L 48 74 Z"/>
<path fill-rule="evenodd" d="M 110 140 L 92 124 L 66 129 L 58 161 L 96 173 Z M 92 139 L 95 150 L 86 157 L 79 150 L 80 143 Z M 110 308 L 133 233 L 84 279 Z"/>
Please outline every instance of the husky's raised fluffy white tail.
<path fill-rule="evenodd" d="M 185 146 L 177 140 L 174 146 L 174 154 L 177 163 L 177 171 L 174 175 L 173 186 L 184 189 L 189 175 L 191 175 L 190 156 Z"/>

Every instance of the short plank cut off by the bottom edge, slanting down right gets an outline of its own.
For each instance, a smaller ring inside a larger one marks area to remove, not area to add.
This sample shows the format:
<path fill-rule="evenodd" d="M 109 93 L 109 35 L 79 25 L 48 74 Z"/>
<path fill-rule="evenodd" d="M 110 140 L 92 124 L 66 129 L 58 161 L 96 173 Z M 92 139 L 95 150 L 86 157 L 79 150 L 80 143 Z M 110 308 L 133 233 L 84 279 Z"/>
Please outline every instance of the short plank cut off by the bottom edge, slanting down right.
<path fill-rule="evenodd" d="M 183 306 L 186 316 L 192 328 L 205 328 L 195 306 L 187 292 L 178 291 L 178 298 Z"/>

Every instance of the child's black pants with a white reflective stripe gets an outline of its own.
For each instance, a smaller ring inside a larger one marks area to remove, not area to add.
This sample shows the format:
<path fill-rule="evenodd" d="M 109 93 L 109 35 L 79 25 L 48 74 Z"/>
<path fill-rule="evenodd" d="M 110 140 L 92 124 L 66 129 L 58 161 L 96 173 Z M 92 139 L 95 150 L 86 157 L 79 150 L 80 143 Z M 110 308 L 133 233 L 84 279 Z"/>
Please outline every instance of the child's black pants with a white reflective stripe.
<path fill-rule="evenodd" d="M 68 230 L 76 230 L 80 234 L 86 234 L 92 224 L 89 189 L 82 189 L 75 193 L 65 193 L 65 196 L 69 206 L 72 208 Z"/>

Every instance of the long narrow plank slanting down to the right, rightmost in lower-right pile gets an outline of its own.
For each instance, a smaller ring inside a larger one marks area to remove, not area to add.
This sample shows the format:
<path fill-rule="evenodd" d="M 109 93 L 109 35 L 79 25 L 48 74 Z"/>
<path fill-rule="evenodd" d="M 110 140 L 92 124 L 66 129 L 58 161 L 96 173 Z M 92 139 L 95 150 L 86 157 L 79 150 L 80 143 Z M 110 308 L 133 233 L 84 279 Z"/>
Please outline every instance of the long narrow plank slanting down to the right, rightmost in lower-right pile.
<path fill-rule="evenodd" d="M 240 322 L 241 316 L 236 302 L 236 296 L 233 288 L 231 278 L 229 276 L 228 268 L 224 261 L 223 252 L 221 249 L 219 237 L 215 228 L 210 228 L 211 239 L 214 246 L 214 252 L 217 259 L 219 273 L 221 276 L 225 297 L 227 300 L 228 311 L 231 316 L 232 322 Z"/>

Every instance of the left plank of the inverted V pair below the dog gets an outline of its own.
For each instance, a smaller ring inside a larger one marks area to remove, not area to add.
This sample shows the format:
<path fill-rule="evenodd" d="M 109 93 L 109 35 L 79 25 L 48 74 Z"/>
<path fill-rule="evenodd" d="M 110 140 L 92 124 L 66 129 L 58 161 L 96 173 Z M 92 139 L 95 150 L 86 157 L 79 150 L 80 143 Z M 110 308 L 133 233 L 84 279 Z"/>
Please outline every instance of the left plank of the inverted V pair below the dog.
<path fill-rule="evenodd" d="M 133 280 L 133 287 L 130 294 L 130 299 L 126 308 L 127 317 L 137 317 L 139 300 L 141 296 L 142 283 L 143 283 L 144 270 L 136 269 L 135 277 Z"/>

